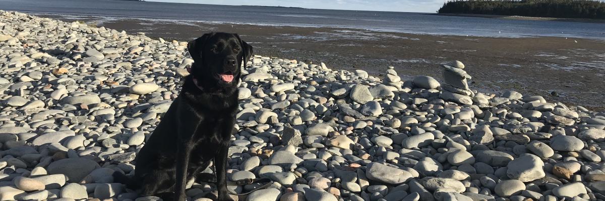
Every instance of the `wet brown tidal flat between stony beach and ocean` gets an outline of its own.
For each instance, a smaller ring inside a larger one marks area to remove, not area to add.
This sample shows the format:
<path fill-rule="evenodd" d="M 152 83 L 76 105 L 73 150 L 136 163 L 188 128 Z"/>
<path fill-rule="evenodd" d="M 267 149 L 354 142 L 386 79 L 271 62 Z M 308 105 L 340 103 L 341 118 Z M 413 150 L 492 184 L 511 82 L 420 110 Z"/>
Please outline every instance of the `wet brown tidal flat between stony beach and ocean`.
<path fill-rule="evenodd" d="M 596 110 L 605 108 L 605 40 L 440 36 L 348 28 L 39 16 L 80 20 L 166 40 L 191 40 L 209 31 L 234 32 L 263 56 L 324 62 L 330 68 L 364 69 L 374 75 L 394 66 L 404 79 L 430 75 L 440 80 L 439 64 L 460 60 L 473 76 L 472 89 L 483 92 L 512 89 L 542 95 L 549 101 Z"/>

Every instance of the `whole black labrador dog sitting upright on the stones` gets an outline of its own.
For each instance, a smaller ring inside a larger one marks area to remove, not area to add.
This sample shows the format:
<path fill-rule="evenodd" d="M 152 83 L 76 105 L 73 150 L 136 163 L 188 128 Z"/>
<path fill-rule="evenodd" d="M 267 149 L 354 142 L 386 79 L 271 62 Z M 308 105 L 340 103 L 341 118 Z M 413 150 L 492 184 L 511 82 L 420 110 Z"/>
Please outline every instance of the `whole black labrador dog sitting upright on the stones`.
<path fill-rule="evenodd" d="M 207 33 L 188 43 L 191 75 L 135 159 L 134 177 L 116 175 L 140 196 L 185 200 L 188 180 L 216 182 L 218 200 L 232 200 L 226 186 L 227 149 L 238 107 L 242 63 L 252 46 L 238 34 Z M 201 173 L 214 161 L 215 174 Z"/>

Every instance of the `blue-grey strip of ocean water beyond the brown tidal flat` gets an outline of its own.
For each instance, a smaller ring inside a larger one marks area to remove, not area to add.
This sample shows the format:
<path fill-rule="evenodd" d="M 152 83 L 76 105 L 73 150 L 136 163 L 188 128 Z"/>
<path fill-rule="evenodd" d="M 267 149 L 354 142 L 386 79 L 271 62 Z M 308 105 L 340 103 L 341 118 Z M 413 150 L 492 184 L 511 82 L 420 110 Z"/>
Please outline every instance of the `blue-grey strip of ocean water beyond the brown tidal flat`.
<path fill-rule="evenodd" d="M 287 5 L 283 5 L 287 6 Z M 0 9 L 102 18 L 157 19 L 296 27 L 338 27 L 397 33 L 486 37 L 605 39 L 605 24 L 437 16 L 430 13 L 321 10 L 114 0 L 0 0 Z"/>

